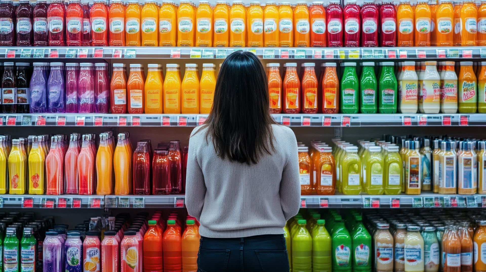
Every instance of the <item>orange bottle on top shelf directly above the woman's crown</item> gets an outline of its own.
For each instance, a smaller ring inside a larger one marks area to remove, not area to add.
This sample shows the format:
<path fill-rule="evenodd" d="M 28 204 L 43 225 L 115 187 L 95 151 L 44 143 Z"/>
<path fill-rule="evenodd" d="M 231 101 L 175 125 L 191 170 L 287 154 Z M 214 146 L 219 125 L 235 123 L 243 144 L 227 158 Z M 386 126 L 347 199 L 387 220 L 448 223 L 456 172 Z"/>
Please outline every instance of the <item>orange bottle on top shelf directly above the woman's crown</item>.
<path fill-rule="evenodd" d="M 246 10 L 241 1 L 233 1 L 233 6 L 229 10 L 229 46 L 245 46 L 245 21 Z"/>

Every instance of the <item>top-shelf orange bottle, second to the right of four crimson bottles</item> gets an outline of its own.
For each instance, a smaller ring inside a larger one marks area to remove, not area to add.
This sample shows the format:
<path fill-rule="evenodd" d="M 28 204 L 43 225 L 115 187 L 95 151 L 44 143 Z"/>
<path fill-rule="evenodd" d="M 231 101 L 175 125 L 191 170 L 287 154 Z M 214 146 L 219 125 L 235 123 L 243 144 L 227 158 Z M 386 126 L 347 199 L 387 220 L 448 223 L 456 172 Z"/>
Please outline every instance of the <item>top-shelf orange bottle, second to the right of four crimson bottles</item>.
<path fill-rule="evenodd" d="M 430 46 L 431 17 L 427 0 L 418 0 L 415 8 L 415 46 Z"/>

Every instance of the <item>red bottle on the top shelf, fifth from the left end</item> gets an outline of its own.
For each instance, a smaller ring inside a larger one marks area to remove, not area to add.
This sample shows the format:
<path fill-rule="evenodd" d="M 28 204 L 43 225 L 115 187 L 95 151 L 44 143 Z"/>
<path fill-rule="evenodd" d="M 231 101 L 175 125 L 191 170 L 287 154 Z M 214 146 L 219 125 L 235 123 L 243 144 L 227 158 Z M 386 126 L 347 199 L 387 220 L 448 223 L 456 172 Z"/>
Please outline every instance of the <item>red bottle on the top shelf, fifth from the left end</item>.
<path fill-rule="evenodd" d="M 79 0 L 69 0 L 66 9 L 66 45 L 81 46 L 83 35 L 83 9 Z"/>

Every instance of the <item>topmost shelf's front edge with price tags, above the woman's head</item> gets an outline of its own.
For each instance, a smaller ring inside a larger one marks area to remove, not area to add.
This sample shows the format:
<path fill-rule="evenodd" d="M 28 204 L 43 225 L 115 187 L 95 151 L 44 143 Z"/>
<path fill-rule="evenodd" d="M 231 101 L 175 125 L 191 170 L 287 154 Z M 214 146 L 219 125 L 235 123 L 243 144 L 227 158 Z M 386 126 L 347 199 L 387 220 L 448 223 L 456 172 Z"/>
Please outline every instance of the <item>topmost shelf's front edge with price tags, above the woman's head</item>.
<path fill-rule="evenodd" d="M 234 51 L 263 59 L 480 59 L 486 47 L 278 48 L 278 47 L 0 47 L 0 59 L 224 59 Z"/>

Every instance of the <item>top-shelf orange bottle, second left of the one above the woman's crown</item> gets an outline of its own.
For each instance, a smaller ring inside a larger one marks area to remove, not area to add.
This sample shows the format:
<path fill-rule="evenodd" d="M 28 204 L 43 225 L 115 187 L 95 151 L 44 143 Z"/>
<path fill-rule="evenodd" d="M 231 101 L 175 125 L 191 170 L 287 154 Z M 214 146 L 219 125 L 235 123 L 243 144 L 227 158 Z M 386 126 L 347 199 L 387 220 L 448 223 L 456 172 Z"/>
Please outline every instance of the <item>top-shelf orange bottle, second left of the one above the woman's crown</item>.
<path fill-rule="evenodd" d="M 199 1 L 196 10 L 196 46 L 212 45 L 212 9 L 208 1 Z"/>

